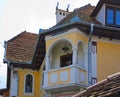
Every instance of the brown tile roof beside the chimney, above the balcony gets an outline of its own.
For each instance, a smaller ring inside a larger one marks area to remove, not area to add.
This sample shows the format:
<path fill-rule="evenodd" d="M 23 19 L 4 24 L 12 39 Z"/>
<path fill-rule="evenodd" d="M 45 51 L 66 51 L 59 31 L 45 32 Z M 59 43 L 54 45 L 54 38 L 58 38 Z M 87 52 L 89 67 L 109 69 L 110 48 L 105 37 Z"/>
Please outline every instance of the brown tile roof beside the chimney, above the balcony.
<path fill-rule="evenodd" d="M 100 24 L 96 19 L 93 19 L 90 17 L 90 15 L 94 9 L 95 9 L 95 6 L 92 6 L 91 4 L 77 8 L 73 12 L 68 14 L 64 19 L 62 19 L 57 25 L 61 25 L 61 24 L 70 22 L 70 20 L 74 16 L 78 16 L 82 21 Z"/>

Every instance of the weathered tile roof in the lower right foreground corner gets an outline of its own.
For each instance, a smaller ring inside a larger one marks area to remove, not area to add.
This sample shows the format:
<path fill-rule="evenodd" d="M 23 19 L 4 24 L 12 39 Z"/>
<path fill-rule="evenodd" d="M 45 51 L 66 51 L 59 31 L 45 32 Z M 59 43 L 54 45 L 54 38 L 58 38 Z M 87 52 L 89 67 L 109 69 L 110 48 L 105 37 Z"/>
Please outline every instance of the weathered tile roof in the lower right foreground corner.
<path fill-rule="evenodd" d="M 108 76 L 73 97 L 120 97 L 120 72 Z"/>

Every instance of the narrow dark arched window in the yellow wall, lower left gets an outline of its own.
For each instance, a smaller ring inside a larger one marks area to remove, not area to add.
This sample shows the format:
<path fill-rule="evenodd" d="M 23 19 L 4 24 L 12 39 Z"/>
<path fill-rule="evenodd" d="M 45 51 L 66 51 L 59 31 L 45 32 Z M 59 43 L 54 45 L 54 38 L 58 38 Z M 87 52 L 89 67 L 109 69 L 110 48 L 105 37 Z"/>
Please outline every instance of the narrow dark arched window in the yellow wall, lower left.
<path fill-rule="evenodd" d="M 31 74 L 27 74 L 25 77 L 25 93 L 33 92 L 33 76 Z"/>

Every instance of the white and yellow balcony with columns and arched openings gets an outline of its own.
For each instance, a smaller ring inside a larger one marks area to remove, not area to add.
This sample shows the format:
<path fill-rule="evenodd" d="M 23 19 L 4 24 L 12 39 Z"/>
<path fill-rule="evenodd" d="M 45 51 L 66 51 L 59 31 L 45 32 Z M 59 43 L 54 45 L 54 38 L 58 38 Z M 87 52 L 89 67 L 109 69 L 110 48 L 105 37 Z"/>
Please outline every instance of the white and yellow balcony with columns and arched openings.
<path fill-rule="evenodd" d="M 85 57 L 82 43 L 73 47 L 67 40 L 59 41 L 46 54 L 43 88 L 46 91 L 85 88 L 88 84 Z"/>

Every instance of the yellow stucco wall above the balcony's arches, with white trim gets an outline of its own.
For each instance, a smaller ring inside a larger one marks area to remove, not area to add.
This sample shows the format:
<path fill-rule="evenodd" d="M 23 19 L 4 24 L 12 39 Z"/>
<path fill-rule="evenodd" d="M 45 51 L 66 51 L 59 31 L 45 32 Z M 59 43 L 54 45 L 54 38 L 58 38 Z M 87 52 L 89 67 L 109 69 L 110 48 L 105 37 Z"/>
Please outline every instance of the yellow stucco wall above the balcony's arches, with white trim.
<path fill-rule="evenodd" d="M 82 41 L 87 44 L 87 37 L 83 35 L 83 32 L 78 29 L 71 29 L 63 34 L 56 36 L 46 36 L 46 52 L 49 51 L 50 47 L 58 40 L 68 39 L 72 42 L 73 46 L 77 46 L 78 42 Z"/>

